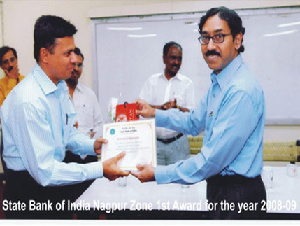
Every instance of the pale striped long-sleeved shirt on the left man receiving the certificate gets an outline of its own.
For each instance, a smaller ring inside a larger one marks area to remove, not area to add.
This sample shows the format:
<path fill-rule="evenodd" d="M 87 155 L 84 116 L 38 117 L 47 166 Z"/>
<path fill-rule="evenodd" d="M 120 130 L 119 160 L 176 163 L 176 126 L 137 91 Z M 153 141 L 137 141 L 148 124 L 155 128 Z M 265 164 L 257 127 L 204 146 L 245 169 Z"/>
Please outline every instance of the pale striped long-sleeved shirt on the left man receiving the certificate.
<path fill-rule="evenodd" d="M 102 162 L 62 162 L 66 147 L 78 155 L 96 155 L 94 140 L 73 127 L 75 118 L 66 83 L 55 85 L 36 64 L 1 106 L 3 159 L 8 169 L 27 170 L 43 186 L 102 177 Z"/>

